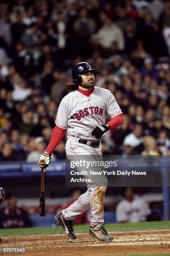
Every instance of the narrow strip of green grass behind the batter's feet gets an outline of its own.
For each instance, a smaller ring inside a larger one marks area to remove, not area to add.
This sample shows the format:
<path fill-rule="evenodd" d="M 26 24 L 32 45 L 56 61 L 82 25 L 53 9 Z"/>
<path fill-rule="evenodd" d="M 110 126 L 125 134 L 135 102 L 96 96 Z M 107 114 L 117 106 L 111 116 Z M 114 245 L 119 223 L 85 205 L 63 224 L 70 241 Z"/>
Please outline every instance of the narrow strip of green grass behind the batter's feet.
<path fill-rule="evenodd" d="M 106 228 L 110 232 L 114 231 L 140 231 L 140 230 L 161 230 L 169 229 L 169 221 L 153 221 L 153 222 L 140 222 L 140 223 L 114 223 L 107 224 Z M 89 225 L 75 225 L 74 230 L 76 233 L 88 233 Z M 14 236 L 33 236 L 33 235 L 53 235 L 62 234 L 62 227 L 47 227 L 47 228 L 13 228 L 1 229 L 0 237 L 14 237 Z"/>

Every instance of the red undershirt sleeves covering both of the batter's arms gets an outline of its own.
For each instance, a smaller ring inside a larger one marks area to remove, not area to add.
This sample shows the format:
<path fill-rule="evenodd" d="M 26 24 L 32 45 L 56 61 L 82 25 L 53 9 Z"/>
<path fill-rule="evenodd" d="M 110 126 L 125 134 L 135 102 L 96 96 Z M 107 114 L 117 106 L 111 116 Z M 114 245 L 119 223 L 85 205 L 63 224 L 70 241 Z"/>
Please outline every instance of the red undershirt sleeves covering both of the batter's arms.
<path fill-rule="evenodd" d="M 116 115 L 114 116 L 108 123 L 110 128 L 115 128 L 120 126 L 124 122 L 123 115 Z M 56 146 L 62 141 L 63 137 L 65 136 L 66 129 L 62 129 L 58 126 L 55 126 L 55 128 L 52 130 L 50 142 L 48 143 L 47 148 L 45 148 L 45 151 L 48 154 L 52 154 L 52 152 L 55 150 Z"/>

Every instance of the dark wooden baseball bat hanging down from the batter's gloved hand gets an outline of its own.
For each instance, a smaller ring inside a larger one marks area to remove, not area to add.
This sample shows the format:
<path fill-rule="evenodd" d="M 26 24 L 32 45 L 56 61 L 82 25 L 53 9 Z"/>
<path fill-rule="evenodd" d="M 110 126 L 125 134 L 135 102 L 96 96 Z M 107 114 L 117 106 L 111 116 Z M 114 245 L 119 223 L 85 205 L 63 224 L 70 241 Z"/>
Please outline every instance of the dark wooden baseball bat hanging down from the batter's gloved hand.
<path fill-rule="evenodd" d="M 41 168 L 41 189 L 40 189 L 40 216 L 45 216 L 45 189 L 44 189 L 44 172 L 45 168 Z"/>

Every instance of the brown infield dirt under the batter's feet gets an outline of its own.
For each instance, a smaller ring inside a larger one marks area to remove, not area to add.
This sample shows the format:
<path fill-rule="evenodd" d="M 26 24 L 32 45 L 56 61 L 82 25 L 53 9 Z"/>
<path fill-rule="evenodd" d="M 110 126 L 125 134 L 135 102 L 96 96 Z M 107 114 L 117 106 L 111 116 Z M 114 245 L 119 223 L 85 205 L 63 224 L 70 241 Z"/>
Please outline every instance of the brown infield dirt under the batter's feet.
<path fill-rule="evenodd" d="M 78 234 L 76 240 L 66 235 L 22 236 L 2 238 L 0 247 L 23 248 L 27 256 L 54 255 L 126 255 L 126 254 L 170 254 L 170 230 L 114 232 L 111 242 L 95 240 L 88 234 Z M 6 253 L 0 253 L 0 255 Z M 16 253 L 10 253 L 16 255 Z"/>

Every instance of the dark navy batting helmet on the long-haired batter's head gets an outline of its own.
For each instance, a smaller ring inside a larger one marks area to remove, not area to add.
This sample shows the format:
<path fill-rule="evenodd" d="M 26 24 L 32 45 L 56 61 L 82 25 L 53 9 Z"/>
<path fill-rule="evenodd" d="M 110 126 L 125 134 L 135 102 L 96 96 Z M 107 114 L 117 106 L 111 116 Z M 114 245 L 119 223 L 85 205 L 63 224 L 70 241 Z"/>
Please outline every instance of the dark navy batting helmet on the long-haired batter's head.
<path fill-rule="evenodd" d="M 75 84 L 80 84 L 82 82 L 81 74 L 87 72 L 87 71 L 96 71 L 95 69 L 92 69 L 90 64 L 87 62 L 80 62 L 76 64 L 72 69 L 72 79 Z"/>

